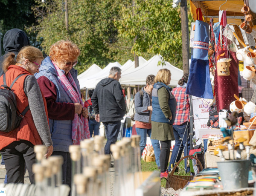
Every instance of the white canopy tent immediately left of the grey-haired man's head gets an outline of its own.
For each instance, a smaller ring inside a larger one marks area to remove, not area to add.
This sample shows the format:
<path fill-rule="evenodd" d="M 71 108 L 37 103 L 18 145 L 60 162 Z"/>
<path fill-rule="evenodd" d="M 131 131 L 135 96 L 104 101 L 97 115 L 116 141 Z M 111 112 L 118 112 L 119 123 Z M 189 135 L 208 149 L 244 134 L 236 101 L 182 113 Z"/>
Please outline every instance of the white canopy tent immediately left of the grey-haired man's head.
<path fill-rule="evenodd" d="M 111 67 L 113 67 L 113 66 L 121 68 L 120 63 L 118 63 L 118 62 L 109 63 L 104 69 L 102 69 L 100 72 L 92 75 L 91 77 L 78 79 L 80 88 L 81 89 L 83 89 L 83 88 L 95 89 L 96 85 L 98 84 L 98 82 L 96 83 L 96 81 L 100 78 L 107 78 L 109 75 L 109 71 L 110 71 Z"/>

